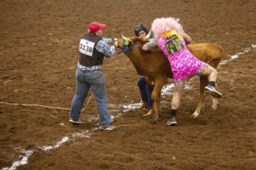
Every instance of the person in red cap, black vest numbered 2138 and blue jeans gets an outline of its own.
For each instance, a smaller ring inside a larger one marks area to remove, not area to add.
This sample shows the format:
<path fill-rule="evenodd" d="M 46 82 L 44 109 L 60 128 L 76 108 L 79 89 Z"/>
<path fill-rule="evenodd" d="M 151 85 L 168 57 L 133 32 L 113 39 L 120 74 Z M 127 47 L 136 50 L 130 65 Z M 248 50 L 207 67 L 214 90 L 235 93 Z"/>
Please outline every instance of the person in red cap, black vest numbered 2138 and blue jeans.
<path fill-rule="evenodd" d="M 105 78 L 102 73 L 104 56 L 111 58 L 116 52 L 118 42 L 114 39 L 102 37 L 105 24 L 92 22 L 88 26 L 88 33 L 80 39 L 79 62 L 76 70 L 76 90 L 71 102 L 69 121 L 80 124 L 81 107 L 91 88 L 97 101 L 99 111 L 99 129 L 113 130 L 112 119 L 107 107 Z M 112 44 L 112 46 L 109 46 Z"/>

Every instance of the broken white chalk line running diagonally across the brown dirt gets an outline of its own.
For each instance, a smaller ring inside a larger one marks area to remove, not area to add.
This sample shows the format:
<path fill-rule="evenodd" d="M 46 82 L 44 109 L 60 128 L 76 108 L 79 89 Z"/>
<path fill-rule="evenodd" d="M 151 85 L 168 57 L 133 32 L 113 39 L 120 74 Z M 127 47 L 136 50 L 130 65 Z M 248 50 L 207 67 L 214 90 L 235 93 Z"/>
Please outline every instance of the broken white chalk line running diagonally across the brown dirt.
<path fill-rule="evenodd" d="M 251 47 L 242 49 L 242 52 L 236 53 L 234 56 L 231 56 L 230 59 L 223 60 L 222 62 L 220 62 L 220 65 L 225 65 L 230 60 L 237 59 L 240 56 L 244 55 L 245 53 L 248 53 L 251 49 L 254 49 L 254 48 L 256 48 L 256 45 L 251 45 Z M 169 95 L 170 91 L 171 91 L 171 89 L 173 89 L 173 87 L 174 87 L 173 83 L 165 85 L 163 87 L 163 89 L 161 90 L 161 93 L 163 95 Z M 192 86 L 188 84 L 187 86 L 185 86 L 185 88 L 189 90 L 189 89 L 192 89 Z M 3 104 L 3 103 L 1 103 L 1 104 Z M 132 101 L 132 104 L 128 104 L 128 105 L 126 105 L 126 104 L 118 104 L 118 105 L 117 104 L 109 104 L 110 108 L 119 109 L 119 110 L 123 109 L 123 113 L 117 114 L 115 117 L 112 117 L 112 119 L 122 117 L 123 114 L 125 114 L 126 112 L 128 112 L 130 110 L 135 110 L 138 105 L 139 104 L 133 104 L 133 101 Z M 57 107 L 55 107 L 55 108 L 57 108 Z M 95 121 L 97 119 L 93 119 L 93 120 Z M 64 124 L 61 124 L 61 125 L 64 125 Z M 95 130 L 98 130 L 98 129 L 94 128 L 91 131 L 95 131 Z M 14 170 L 21 165 L 26 165 L 28 163 L 29 157 L 31 155 L 33 155 L 33 152 L 38 151 L 39 149 L 43 150 L 43 151 L 50 151 L 51 149 L 61 147 L 61 145 L 63 145 L 67 141 L 75 140 L 75 138 L 91 138 L 91 131 L 85 130 L 85 131 L 82 131 L 81 133 L 76 132 L 74 134 L 71 134 L 71 138 L 66 136 L 66 137 L 62 138 L 61 141 L 58 141 L 56 145 L 52 145 L 52 146 L 42 146 L 42 147 L 36 148 L 34 150 L 25 150 L 25 149 L 16 148 L 21 153 L 24 153 L 24 155 L 19 155 L 18 160 L 13 162 L 12 166 L 10 168 L 2 168 L 2 170 Z"/>

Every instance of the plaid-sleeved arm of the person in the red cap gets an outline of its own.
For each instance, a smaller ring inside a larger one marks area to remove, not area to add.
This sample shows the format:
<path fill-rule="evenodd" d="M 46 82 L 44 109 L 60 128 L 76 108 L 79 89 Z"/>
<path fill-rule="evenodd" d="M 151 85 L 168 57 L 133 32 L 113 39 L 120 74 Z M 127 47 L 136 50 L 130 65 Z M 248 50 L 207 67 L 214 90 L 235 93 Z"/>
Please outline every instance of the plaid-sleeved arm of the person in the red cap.
<path fill-rule="evenodd" d="M 109 47 L 107 42 L 110 42 L 110 40 L 112 42 L 112 39 L 100 39 L 97 45 L 95 46 L 99 53 L 104 54 L 104 56 L 108 58 L 111 58 L 116 52 L 116 48 L 114 45 Z"/>

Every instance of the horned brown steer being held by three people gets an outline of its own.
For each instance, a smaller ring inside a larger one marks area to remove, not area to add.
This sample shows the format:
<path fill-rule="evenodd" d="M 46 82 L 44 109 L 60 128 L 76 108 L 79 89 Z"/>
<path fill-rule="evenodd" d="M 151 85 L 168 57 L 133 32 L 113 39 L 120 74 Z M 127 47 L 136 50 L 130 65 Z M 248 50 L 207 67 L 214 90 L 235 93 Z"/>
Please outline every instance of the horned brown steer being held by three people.
<path fill-rule="evenodd" d="M 155 123 L 159 117 L 160 101 L 161 101 L 161 89 L 164 84 L 168 83 L 168 78 L 173 79 L 173 73 L 171 72 L 171 66 L 161 49 L 150 49 L 150 52 L 146 52 L 142 49 L 144 43 L 150 36 L 150 32 L 143 39 L 140 37 L 126 38 L 119 30 L 122 40 L 119 40 L 119 49 L 121 49 L 133 63 L 133 66 L 137 70 L 137 74 L 145 76 L 147 83 L 154 86 L 154 90 L 151 94 L 151 100 L 153 104 L 153 111 L 149 111 L 148 114 L 152 116 L 152 121 Z M 125 43 L 124 43 L 125 42 Z M 129 44 L 128 44 L 129 42 Z M 126 45 L 125 45 L 126 44 Z M 221 54 L 223 48 L 213 43 L 198 43 L 189 44 L 189 51 L 198 59 L 216 68 L 220 63 Z M 119 52 L 120 53 L 120 52 Z M 196 107 L 194 114 L 191 117 L 198 117 L 202 107 L 202 102 L 206 97 L 204 87 L 208 84 L 207 76 L 200 76 L 200 95 L 199 103 Z M 217 99 L 213 98 L 213 109 L 216 109 Z"/>

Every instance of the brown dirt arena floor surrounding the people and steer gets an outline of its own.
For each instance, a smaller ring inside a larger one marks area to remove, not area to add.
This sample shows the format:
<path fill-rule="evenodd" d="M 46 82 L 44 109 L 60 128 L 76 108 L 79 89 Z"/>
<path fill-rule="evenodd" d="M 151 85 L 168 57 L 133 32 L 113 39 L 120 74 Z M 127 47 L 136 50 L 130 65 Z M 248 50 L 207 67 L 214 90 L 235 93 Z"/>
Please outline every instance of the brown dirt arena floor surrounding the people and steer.
<path fill-rule="evenodd" d="M 2 0 L 0 168 L 256 169 L 255 6 L 254 0 Z M 225 49 L 225 64 L 217 68 L 223 93 L 218 109 L 207 97 L 199 117 L 190 118 L 199 99 L 195 78 L 182 97 L 178 126 L 165 125 L 171 94 L 162 96 L 161 117 L 152 124 L 142 117 L 147 109 L 134 109 L 139 76 L 122 53 L 103 66 L 116 130 L 95 130 L 94 97 L 82 124 L 70 124 L 78 42 L 88 23 L 106 23 L 104 36 L 120 38 L 119 27 L 133 36 L 138 23 L 150 27 L 168 16 L 181 19 L 193 43 Z"/>

